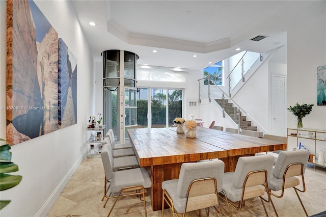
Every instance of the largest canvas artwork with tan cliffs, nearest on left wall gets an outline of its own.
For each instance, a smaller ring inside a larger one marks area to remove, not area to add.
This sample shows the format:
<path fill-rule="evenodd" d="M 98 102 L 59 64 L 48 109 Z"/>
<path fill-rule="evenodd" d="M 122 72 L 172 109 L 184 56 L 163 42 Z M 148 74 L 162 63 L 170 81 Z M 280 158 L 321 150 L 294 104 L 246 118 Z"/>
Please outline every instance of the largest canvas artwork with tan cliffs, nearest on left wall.
<path fill-rule="evenodd" d="M 33 1 L 7 1 L 7 141 L 58 129 L 58 33 Z"/>

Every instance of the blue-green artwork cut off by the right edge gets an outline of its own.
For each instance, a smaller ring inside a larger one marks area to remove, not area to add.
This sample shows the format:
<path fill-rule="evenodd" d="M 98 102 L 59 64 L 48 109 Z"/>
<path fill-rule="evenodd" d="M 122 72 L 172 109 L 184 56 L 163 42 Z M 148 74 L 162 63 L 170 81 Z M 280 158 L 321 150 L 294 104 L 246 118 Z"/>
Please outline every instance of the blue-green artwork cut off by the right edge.
<path fill-rule="evenodd" d="M 326 66 L 317 67 L 317 105 L 326 105 Z"/>

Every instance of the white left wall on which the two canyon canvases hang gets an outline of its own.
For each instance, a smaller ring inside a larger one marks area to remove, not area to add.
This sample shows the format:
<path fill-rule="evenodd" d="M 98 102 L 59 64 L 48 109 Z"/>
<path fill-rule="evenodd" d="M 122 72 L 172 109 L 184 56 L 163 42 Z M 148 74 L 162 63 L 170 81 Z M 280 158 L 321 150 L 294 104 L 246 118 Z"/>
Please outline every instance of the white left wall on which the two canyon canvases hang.
<path fill-rule="evenodd" d="M 85 154 L 86 120 L 90 115 L 93 60 L 70 1 L 35 1 L 77 59 L 77 124 L 12 146 L 12 161 L 22 175 L 19 185 L 1 192 L 12 200 L 2 216 L 45 216 Z M 6 1 L 1 9 L 0 102 L 6 105 Z M 69 17 L 69 19 L 67 19 Z M 6 137 L 6 112 L 0 111 L 1 138 Z"/>

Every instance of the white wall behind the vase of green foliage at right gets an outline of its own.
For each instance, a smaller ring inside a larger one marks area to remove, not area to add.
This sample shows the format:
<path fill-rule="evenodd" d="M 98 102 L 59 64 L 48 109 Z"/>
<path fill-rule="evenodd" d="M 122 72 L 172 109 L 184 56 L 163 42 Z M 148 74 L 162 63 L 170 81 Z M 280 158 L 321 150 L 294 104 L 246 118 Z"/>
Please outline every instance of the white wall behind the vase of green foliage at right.
<path fill-rule="evenodd" d="M 287 107 L 315 104 L 303 127 L 326 130 L 326 106 L 317 106 L 317 67 L 326 65 L 326 1 L 316 1 L 287 32 Z M 308 19 L 307 19 L 308 17 Z M 296 118 L 287 113 L 288 127 Z"/>

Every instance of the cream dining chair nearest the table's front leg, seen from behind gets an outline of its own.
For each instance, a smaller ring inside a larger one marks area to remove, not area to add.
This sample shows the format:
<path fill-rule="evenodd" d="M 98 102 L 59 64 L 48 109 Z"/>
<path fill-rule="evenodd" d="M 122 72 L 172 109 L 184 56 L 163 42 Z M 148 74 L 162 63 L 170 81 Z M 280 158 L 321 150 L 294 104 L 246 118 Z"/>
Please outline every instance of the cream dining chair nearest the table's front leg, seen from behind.
<path fill-rule="evenodd" d="M 222 191 L 223 174 L 222 160 L 183 163 L 179 179 L 162 182 L 162 216 L 165 202 L 172 209 L 173 216 L 181 213 L 185 216 L 186 212 L 211 206 L 218 216 L 216 204 L 221 211 L 218 193 Z"/>

